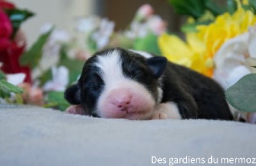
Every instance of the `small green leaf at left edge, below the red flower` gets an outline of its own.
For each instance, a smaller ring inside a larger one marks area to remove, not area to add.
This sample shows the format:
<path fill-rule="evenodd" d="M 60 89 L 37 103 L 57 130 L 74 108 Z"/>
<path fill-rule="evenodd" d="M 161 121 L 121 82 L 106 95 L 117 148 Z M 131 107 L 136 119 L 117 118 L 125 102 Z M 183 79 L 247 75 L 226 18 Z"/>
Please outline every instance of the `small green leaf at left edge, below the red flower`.
<path fill-rule="evenodd" d="M 10 98 L 10 93 L 23 93 L 23 89 L 7 82 L 6 80 L 0 80 L 0 97 Z"/>

